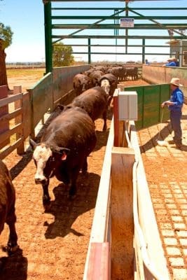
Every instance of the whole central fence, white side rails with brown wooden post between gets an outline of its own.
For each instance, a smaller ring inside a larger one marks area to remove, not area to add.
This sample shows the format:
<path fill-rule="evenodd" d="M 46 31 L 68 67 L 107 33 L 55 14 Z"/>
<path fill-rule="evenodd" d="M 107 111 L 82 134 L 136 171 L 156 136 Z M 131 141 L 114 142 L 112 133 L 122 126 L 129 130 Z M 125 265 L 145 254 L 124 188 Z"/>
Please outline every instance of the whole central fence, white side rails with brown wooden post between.
<path fill-rule="evenodd" d="M 117 104 L 114 103 L 114 111 L 118 111 Z M 106 145 L 83 280 L 169 280 L 134 121 L 114 118 L 118 118 L 115 112 Z M 113 130 L 117 122 L 118 135 L 115 134 L 117 130 Z M 115 143 L 120 146 L 114 147 Z M 116 156 L 118 160 L 113 160 Z M 93 245 L 99 244 L 102 248 L 106 243 L 108 250 L 100 249 L 92 258 Z"/>

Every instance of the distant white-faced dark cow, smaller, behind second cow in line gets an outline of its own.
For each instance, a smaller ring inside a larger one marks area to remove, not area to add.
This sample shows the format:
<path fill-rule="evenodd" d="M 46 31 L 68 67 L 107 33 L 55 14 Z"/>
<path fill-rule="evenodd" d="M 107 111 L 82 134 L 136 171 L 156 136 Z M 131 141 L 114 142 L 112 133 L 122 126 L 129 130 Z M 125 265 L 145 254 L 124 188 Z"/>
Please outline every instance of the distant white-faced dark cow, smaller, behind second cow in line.
<path fill-rule="evenodd" d="M 111 99 L 113 97 L 113 92 L 118 86 L 118 78 L 116 78 L 116 76 L 114 76 L 112 73 L 106 73 L 100 78 L 99 85 L 108 94 L 108 105 L 110 105 Z"/>

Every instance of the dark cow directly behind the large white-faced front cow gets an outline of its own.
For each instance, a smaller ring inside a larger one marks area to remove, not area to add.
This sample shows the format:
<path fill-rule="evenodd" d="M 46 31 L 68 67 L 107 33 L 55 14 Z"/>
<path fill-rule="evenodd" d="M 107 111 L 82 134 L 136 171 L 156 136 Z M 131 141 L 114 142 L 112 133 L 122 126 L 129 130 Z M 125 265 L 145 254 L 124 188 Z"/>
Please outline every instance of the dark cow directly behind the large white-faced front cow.
<path fill-rule="evenodd" d="M 91 87 L 89 90 L 75 97 L 67 106 L 58 105 L 61 110 L 67 110 L 72 106 L 84 109 L 93 121 L 102 117 L 104 120 L 103 130 L 106 130 L 108 94 L 102 87 Z"/>

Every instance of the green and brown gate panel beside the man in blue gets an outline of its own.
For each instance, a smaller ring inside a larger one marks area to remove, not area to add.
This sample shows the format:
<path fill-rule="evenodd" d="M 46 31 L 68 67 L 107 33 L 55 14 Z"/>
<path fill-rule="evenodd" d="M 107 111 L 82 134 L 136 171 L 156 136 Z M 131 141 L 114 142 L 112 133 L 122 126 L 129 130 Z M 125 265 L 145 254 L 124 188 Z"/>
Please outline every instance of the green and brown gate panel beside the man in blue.
<path fill-rule="evenodd" d="M 162 116 L 160 104 L 170 97 L 168 84 L 125 87 L 124 91 L 137 92 L 138 120 L 135 122 L 137 130 L 160 123 Z M 168 118 L 169 111 L 164 109 L 162 121 L 168 120 Z"/>

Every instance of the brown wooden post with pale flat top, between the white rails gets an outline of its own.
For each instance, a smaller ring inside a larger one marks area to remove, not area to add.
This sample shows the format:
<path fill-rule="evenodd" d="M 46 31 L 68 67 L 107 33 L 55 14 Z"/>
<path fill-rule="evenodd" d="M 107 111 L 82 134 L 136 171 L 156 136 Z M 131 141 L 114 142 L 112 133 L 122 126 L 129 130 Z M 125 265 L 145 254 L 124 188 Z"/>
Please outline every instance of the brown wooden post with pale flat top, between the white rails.
<path fill-rule="evenodd" d="M 134 279 L 132 167 L 134 149 L 113 147 L 111 155 L 111 279 Z"/>

